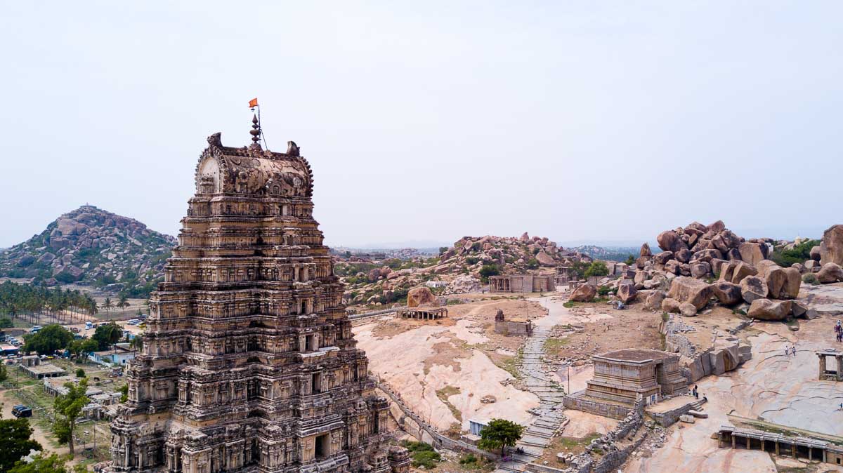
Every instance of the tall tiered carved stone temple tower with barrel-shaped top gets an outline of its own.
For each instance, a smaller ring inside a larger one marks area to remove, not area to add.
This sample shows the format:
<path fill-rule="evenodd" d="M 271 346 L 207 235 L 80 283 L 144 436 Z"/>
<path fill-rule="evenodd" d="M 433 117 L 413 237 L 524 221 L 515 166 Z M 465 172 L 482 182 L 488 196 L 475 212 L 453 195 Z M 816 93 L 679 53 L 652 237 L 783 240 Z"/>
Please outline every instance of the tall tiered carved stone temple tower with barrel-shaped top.
<path fill-rule="evenodd" d="M 111 471 L 404 473 L 313 218 L 313 173 L 208 137 L 111 423 Z"/>

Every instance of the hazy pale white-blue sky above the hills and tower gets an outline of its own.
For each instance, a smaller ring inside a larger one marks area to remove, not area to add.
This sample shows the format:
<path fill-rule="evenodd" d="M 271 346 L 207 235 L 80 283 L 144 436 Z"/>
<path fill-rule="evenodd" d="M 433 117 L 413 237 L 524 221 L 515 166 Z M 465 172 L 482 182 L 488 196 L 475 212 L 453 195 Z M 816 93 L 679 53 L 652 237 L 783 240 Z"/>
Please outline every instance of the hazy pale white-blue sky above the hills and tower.
<path fill-rule="evenodd" d="M 175 235 L 253 97 L 331 245 L 843 223 L 843 3 L 242 4 L 3 1 L 0 247 L 86 202 Z"/>

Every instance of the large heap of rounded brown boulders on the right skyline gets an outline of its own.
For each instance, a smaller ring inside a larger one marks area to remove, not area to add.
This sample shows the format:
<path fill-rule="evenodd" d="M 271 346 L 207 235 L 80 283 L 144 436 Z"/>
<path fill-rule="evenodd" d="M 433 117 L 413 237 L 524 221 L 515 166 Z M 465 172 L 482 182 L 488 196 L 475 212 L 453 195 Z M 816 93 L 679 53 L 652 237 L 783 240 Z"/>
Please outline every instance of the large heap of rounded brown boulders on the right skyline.
<path fill-rule="evenodd" d="M 830 233 L 826 231 L 826 235 Z M 734 307 L 766 320 L 804 314 L 802 306 L 791 300 L 799 296 L 806 265 L 794 263 L 783 268 L 768 258 L 774 248 L 793 250 L 808 241 L 748 240 L 722 221 L 711 225 L 693 222 L 663 231 L 657 241 L 661 252 L 652 254 L 647 244 L 642 245 L 635 268 L 620 279 L 607 281 L 624 303 L 643 300 L 648 308 L 683 316 L 695 316 L 711 304 Z M 835 270 L 834 264 L 818 268 L 816 278 L 843 279 L 843 270 Z"/>

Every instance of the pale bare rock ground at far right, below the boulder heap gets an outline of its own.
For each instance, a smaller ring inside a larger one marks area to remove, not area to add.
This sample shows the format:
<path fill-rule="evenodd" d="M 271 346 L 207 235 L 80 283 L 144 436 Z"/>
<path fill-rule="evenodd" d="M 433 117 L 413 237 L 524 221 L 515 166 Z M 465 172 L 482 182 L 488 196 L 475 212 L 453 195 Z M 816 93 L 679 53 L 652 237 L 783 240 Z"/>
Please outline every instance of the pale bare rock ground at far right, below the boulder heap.
<path fill-rule="evenodd" d="M 800 321 L 799 331 L 790 332 L 781 322 L 756 322 L 747 332 L 753 359 L 736 371 L 708 376 L 697 383 L 701 396 L 708 397 L 704 410 L 709 418 L 697 419 L 694 424 L 674 425 L 668 430 L 668 441 L 662 449 L 656 450 L 652 458 L 631 460 L 624 471 L 776 471 L 769 454 L 717 448 L 711 433 L 717 432 L 721 425 L 733 425 L 728 417 L 730 413 L 843 435 L 841 385 L 817 379 L 819 364 L 814 354 L 815 350 L 838 345 L 833 323 L 828 317 Z M 784 348 L 794 344 L 796 356 L 785 355 Z M 776 461 L 781 467 L 797 466 L 788 464 L 792 460 L 777 458 Z M 843 469 L 824 464 L 819 466 L 819 471 Z"/>

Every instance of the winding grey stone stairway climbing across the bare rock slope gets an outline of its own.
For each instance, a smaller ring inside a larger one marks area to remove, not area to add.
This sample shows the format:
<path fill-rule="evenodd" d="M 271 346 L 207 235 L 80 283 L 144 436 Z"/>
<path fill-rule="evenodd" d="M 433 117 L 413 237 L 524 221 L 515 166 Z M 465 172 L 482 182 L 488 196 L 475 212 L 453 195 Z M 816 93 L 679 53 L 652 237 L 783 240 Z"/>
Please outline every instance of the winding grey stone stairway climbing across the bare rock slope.
<path fill-rule="evenodd" d="M 562 399 L 565 397 L 556 383 L 545 374 L 545 340 L 550 337 L 550 329 L 536 327 L 533 335 L 527 339 L 522 351 L 521 364 L 518 372 L 524 380 L 524 386 L 536 396 L 539 396 L 539 407 L 534 411 L 537 418 L 524 431 L 524 436 L 518 441 L 516 449 L 524 453 L 510 454 L 510 460 L 501 462 L 495 473 L 513 473 L 524 471 L 527 465 L 538 460 L 550 445 L 553 434 L 566 417 L 562 414 Z"/>

